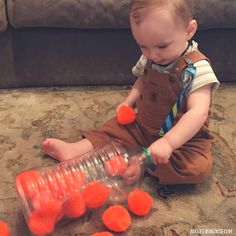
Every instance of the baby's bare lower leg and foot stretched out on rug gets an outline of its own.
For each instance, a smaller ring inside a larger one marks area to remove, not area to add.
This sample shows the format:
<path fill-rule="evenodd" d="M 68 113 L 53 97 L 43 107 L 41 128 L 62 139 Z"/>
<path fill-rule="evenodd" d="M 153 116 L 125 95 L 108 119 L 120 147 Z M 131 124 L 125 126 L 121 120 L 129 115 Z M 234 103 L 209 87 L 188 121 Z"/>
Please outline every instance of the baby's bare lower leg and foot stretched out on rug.
<path fill-rule="evenodd" d="M 76 143 L 67 143 L 60 139 L 48 138 L 42 142 L 43 153 L 58 161 L 66 161 L 93 150 L 88 139 Z"/>

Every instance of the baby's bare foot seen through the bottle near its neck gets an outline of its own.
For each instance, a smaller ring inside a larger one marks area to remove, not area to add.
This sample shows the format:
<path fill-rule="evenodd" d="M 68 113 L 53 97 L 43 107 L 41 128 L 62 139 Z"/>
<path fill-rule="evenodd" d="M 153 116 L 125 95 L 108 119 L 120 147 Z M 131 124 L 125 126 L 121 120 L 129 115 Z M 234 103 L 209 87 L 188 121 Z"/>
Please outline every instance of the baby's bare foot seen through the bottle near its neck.
<path fill-rule="evenodd" d="M 125 182 L 127 184 L 133 184 L 135 181 L 138 181 L 140 179 L 141 174 L 142 169 L 139 161 L 135 156 L 131 157 L 129 160 L 129 166 L 123 175 Z"/>

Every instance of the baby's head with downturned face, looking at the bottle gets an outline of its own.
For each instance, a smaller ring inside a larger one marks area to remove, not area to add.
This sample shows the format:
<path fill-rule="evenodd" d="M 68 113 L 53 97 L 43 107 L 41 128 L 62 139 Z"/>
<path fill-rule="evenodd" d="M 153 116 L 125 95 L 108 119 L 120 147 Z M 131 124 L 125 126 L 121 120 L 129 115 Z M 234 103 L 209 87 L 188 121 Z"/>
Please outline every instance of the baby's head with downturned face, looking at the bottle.
<path fill-rule="evenodd" d="M 197 30 L 190 0 L 131 0 L 130 23 L 143 54 L 163 65 L 181 56 Z"/>

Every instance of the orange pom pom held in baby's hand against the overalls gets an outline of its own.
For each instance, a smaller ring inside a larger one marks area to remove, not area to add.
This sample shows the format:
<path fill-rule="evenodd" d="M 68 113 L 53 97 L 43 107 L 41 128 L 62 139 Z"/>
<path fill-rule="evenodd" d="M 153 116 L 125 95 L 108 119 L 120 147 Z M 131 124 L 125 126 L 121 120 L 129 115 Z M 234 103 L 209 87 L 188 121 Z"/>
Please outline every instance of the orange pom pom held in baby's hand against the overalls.
<path fill-rule="evenodd" d="M 118 110 L 117 121 L 121 125 L 128 125 L 135 121 L 135 111 L 132 107 L 121 106 Z"/>

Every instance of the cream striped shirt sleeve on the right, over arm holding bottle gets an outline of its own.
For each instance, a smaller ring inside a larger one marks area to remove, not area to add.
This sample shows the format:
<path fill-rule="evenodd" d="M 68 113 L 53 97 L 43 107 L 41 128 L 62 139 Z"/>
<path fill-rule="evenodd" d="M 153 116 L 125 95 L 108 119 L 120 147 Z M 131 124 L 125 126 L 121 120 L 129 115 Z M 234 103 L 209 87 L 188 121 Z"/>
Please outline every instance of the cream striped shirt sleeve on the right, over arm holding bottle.
<path fill-rule="evenodd" d="M 187 94 L 208 84 L 211 85 L 212 94 L 214 94 L 220 82 L 216 78 L 210 63 L 207 60 L 201 60 L 194 63 L 194 66 L 196 67 L 196 74 Z"/>

